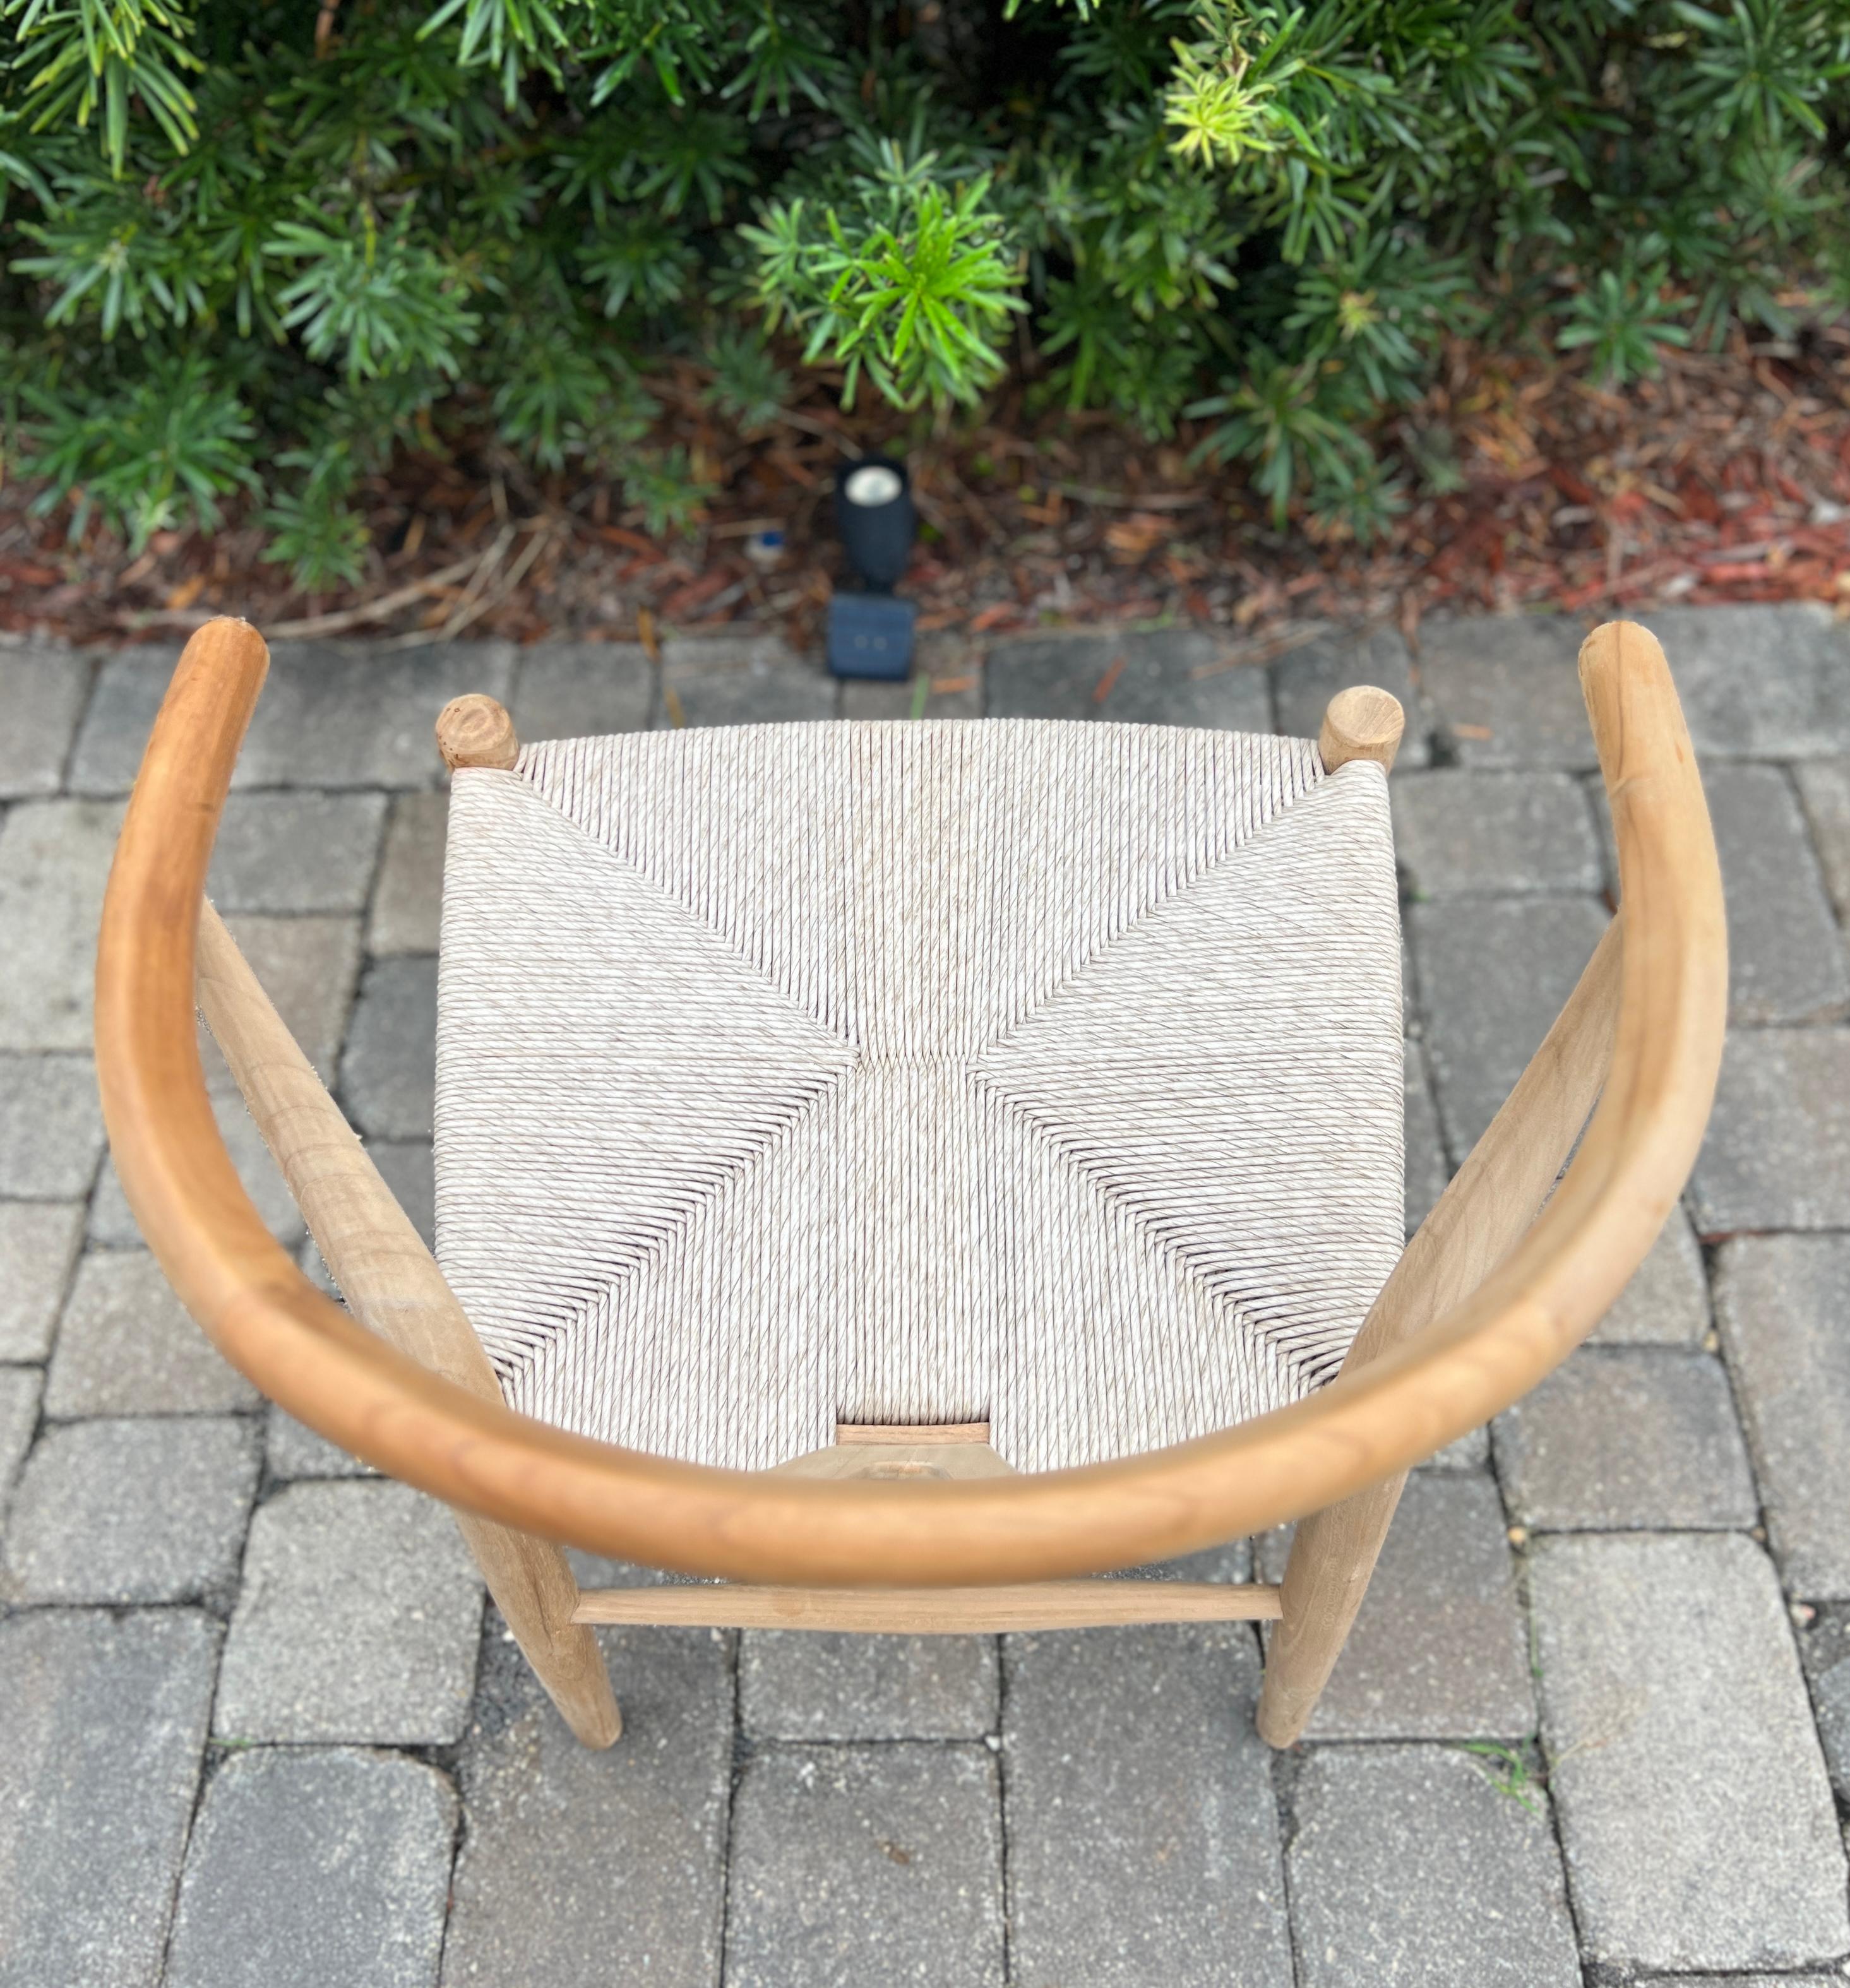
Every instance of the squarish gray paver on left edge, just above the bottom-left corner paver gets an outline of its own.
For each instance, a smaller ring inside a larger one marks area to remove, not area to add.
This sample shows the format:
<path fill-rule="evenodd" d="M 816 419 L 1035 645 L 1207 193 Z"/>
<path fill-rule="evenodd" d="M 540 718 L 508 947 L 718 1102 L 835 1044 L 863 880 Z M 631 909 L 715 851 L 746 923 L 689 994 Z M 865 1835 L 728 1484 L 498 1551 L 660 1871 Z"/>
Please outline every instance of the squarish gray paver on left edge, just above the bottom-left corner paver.
<path fill-rule="evenodd" d="M 161 1415 L 48 1427 L 6 1521 L 6 1590 L 22 1602 L 183 1602 L 239 1569 L 257 1489 L 243 1417 Z"/>

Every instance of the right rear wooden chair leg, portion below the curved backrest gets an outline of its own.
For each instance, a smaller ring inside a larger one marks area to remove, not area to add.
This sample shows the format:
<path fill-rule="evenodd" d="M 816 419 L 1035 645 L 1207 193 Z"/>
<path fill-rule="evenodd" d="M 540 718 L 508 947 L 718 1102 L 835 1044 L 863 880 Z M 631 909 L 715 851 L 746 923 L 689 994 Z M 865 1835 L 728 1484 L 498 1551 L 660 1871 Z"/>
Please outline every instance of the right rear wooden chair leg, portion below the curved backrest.
<path fill-rule="evenodd" d="M 1369 1592 L 1404 1483 L 1402 1471 L 1297 1521 L 1259 1690 L 1259 1738 L 1267 1745 L 1295 1745 L 1317 1710 Z"/>

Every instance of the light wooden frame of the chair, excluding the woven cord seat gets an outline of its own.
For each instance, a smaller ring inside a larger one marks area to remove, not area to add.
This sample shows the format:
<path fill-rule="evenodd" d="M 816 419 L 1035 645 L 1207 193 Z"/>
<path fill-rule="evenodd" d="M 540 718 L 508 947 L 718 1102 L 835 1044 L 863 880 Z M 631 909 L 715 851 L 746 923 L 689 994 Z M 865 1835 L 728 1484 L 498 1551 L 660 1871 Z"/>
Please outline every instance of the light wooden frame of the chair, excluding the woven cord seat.
<path fill-rule="evenodd" d="M 442 1272 L 203 901 L 267 666 L 245 622 L 201 628 L 129 801 L 95 1000 L 115 1165 L 221 1352 L 310 1427 L 456 1509 L 589 1745 L 621 1730 L 589 1622 L 931 1632 L 1241 1616 L 1277 1620 L 1259 1728 L 1289 1745 L 1406 1469 L 1508 1408 L 1593 1328 L 1695 1161 L 1727 1008 L 1721 875 L 1663 650 L 1609 622 L 1579 668 L 1621 914 L 1329 1388 L 1198 1441 L 1032 1475 L 1011 1471 L 981 1425 L 841 1429 L 830 1449 L 754 1473 L 567 1435 L 501 1402 Z M 1349 690 L 1319 744 L 1329 767 L 1390 765 L 1398 734 L 1392 698 Z M 452 763 L 507 765 L 515 751 L 485 698 L 450 708 L 442 744 Z M 300 1274 L 239 1183 L 205 1091 L 195 998 L 352 1310 Z M 1070 1578 L 1287 1519 L 1301 1523 L 1277 1588 Z M 585 1594 L 561 1545 L 724 1584 Z"/>

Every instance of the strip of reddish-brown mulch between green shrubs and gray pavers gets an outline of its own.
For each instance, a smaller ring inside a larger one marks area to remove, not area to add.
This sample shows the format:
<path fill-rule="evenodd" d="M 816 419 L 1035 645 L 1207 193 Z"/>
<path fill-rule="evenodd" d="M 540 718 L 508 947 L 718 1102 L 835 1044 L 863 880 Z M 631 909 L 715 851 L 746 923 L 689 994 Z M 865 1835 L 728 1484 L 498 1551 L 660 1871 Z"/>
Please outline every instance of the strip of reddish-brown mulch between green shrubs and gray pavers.
<path fill-rule="evenodd" d="M 843 415 L 828 382 L 762 435 L 704 412 L 700 376 L 650 380 L 660 441 L 718 485 L 704 523 L 656 543 L 607 483 L 535 479 L 491 447 L 408 455 L 368 487 L 372 571 L 304 598 L 237 519 L 161 533 L 139 557 L 72 545 L 0 495 L 0 628 L 78 642 L 181 632 L 243 612 L 269 634 L 458 634 L 652 642 L 782 622 L 812 642 L 837 555 L 830 489 L 843 453 L 905 447 L 925 531 L 905 580 L 921 628 L 971 634 L 1160 618 L 1223 624 L 1265 650 L 1273 622 L 1394 620 L 1434 608 L 1599 614 L 1665 600 L 1826 600 L 1850 612 L 1850 320 L 1796 346 L 1665 358 L 1601 392 L 1583 368 L 1460 346 L 1406 417 L 1444 423 L 1464 487 L 1422 499 L 1377 547 L 1273 533 L 1237 471 L 1192 467 L 1196 433 L 1136 441 L 1102 415 L 1022 412 L 925 439 L 901 417 Z M 778 527 L 784 559 L 746 557 Z"/>

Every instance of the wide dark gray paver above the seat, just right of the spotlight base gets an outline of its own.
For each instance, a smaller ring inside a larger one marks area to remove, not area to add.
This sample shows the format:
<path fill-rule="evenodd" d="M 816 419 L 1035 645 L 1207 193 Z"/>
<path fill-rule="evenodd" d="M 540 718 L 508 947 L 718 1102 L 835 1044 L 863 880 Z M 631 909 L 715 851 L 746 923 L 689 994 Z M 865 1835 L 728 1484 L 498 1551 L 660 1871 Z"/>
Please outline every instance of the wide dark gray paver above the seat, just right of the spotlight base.
<path fill-rule="evenodd" d="M 999 642 L 989 652 L 989 716 L 1271 732 L 1265 670 L 1255 664 L 1213 670 L 1227 648 L 1223 636 L 1203 628 Z"/>

